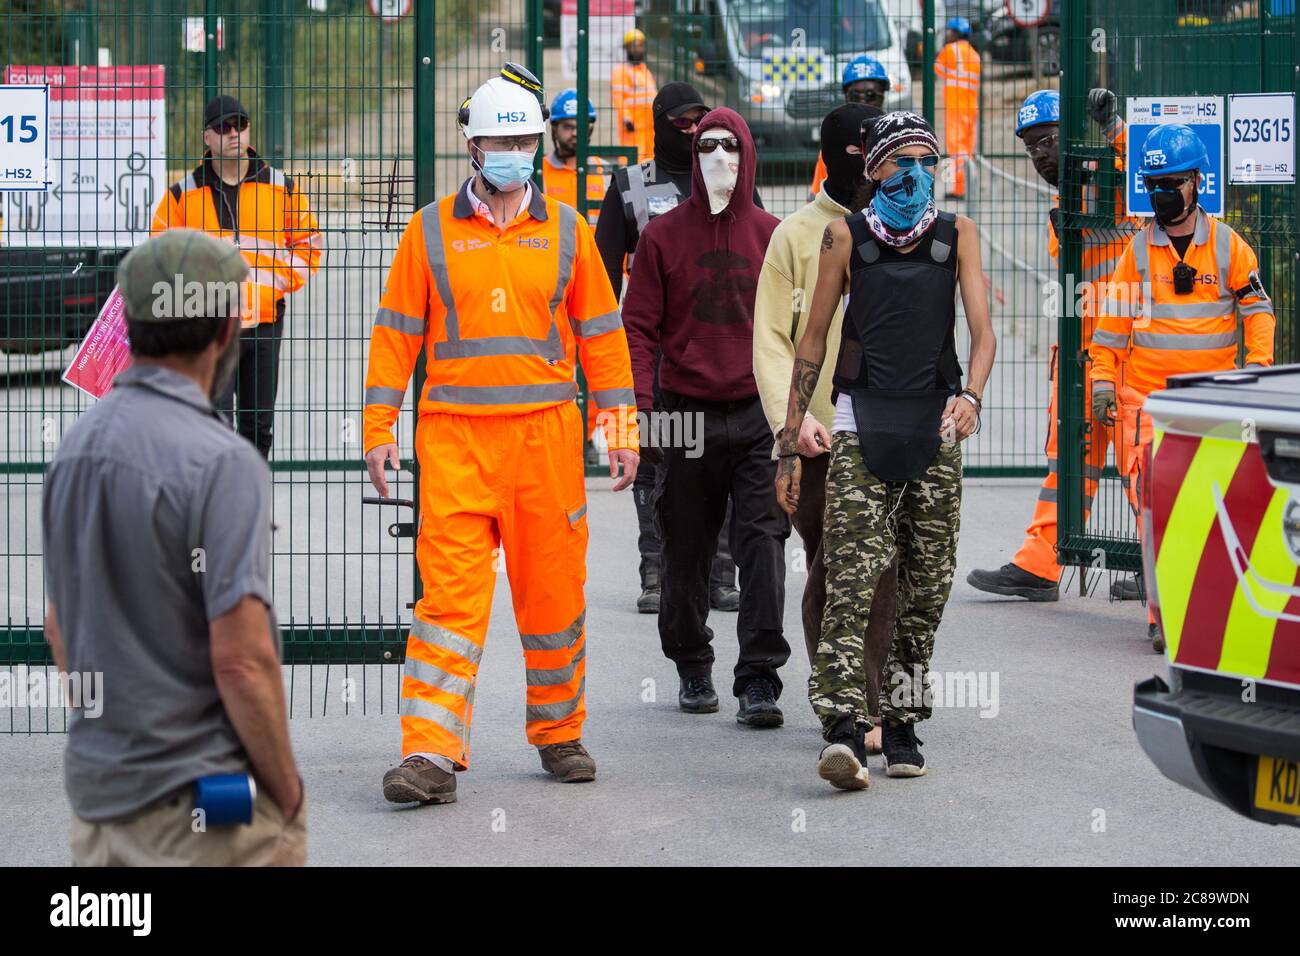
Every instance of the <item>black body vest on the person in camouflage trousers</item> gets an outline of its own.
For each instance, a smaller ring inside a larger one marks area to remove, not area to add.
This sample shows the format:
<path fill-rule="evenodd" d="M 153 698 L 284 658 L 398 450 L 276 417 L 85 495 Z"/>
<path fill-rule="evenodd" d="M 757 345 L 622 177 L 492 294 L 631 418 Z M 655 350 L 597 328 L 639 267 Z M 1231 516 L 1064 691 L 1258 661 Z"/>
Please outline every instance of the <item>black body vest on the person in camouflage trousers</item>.
<path fill-rule="evenodd" d="M 957 362 L 957 217 L 939 219 L 910 252 L 880 243 L 862 213 L 853 237 L 835 395 L 849 393 L 862 457 L 883 481 L 930 468 L 948 401 L 961 392 Z"/>

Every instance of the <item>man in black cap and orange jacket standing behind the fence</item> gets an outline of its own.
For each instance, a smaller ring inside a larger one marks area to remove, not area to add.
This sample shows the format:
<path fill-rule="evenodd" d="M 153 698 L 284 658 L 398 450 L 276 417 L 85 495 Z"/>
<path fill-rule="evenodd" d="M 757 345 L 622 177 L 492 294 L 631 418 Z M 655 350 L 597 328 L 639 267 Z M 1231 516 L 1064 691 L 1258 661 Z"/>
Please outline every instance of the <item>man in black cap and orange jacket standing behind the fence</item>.
<path fill-rule="evenodd" d="M 285 297 L 300 291 L 316 274 L 325 241 L 307 198 L 248 147 L 248 111 L 239 100 L 213 98 L 203 111 L 203 163 L 162 195 L 151 234 L 199 229 L 234 243 L 248 263 L 239 368 L 216 406 L 234 416 L 238 398 L 239 434 L 268 458 Z"/>

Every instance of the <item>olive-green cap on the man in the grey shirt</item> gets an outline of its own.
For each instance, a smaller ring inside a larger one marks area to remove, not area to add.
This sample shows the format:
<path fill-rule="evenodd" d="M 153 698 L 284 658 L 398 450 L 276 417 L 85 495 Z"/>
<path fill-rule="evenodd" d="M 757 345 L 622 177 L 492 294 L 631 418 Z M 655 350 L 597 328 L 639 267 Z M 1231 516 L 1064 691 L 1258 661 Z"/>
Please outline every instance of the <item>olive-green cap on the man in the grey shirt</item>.
<path fill-rule="evenodd" d="M 126 317 L 142 323 L 238 316 L 247 277 L 239 250 L 198 229 L 169 229 L 117 267 Z"/>

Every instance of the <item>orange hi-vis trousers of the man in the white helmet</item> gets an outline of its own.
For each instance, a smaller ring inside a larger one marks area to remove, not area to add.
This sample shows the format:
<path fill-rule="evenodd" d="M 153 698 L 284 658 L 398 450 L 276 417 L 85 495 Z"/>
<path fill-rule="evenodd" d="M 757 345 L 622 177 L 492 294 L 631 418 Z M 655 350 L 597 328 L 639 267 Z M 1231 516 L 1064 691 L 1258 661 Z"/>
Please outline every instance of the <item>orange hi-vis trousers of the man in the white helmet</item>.
<path fill-rule="evenodd" d="M 577 740 L 586 717 L 586 490 L 582 416 L 564 402 L 523 415 L 421 415 L 424 596 L 402 671 L 402 754 L 469 766 L 478 661 L 504 561 L 528 671 L 524 731 Z"/>

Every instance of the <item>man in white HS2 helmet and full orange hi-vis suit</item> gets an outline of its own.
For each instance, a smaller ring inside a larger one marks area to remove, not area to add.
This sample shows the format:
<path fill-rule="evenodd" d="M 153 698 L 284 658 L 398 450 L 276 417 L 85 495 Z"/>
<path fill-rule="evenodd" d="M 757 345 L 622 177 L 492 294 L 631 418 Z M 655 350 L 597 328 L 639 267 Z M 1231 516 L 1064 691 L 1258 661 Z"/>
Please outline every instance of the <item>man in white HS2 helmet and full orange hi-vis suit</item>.
<path fill-rule="evenodd" d="M 411 219 L 370 333 L 365 462 L 381 496 L 385 463 L 400 466 L 393 427 L 421 352 L 426 373 L 415 434 L 424 594 L 402 679 L 404 760 L 384 777 L 393 803 L 455 800 L 499 561 L 528 669 L 528 740 L 562 780 L 595 777 L 581 744 L 588 528 L 577 355 L 611 412 L 614 490 L 636 477 L 640 436 L 627 337 L 590 226 L 529 181 L 545 131 L 540 92 L 507 64 L 462 108 L 474 174 Z"/>

